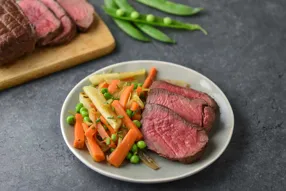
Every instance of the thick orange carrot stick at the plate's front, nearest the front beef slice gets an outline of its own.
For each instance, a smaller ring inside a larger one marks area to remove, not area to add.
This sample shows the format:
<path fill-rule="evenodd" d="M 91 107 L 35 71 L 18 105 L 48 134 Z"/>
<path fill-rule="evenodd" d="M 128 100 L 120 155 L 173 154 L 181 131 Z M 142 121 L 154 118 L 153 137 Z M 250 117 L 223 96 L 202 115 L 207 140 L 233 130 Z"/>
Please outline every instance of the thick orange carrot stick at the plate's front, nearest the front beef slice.
<path fill-rule="evenodd" d="M 132 145 L 135 143 L 138 137 L 135 129 L 130 129 L 122 142 L 116 147 L 116 149 L 109 155 L 108 162 L 115 167 L 119 167 L 126 158 Z"/>

